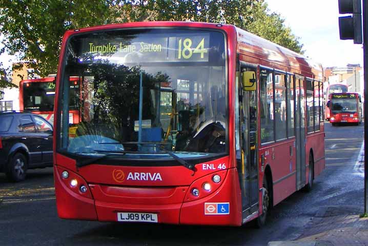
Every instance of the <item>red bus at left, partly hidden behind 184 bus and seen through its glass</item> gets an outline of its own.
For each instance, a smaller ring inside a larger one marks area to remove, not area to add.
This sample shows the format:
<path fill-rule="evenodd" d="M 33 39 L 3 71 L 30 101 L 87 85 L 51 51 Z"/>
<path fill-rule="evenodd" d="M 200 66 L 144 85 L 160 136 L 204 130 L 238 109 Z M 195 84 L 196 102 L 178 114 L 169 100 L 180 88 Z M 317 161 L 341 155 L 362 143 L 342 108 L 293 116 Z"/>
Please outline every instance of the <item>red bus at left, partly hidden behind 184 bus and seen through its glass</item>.
<path fill-rule="evenodd" d="M 79 122 L 79 78 L 70 78 L 69 121 Z M 55 76 L 25 79 L 19 83 L 19 109 L 42 115 L 54 124 Z"/>

